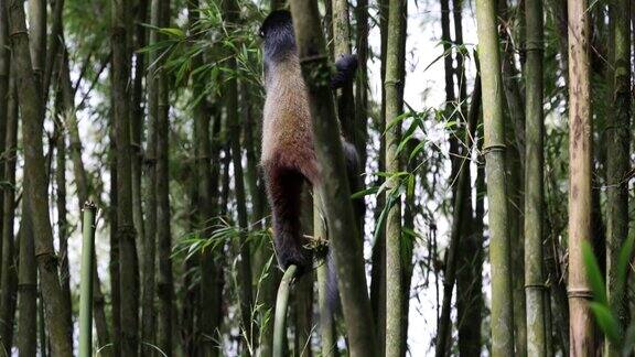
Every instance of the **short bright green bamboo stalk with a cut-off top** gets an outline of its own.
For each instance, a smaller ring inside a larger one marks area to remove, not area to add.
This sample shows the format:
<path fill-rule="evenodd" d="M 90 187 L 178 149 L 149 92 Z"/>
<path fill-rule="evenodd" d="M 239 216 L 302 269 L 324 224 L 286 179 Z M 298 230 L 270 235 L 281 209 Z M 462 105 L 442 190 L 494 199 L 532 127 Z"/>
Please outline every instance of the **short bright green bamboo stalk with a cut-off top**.
<path fill-rule="evenodd" d="M 82 268 L 79 284 L 79 357 L 93 356 L 93 269 L 95 260 L 95 214 L 97 207 L 92 202 L 84 203 Z"/>

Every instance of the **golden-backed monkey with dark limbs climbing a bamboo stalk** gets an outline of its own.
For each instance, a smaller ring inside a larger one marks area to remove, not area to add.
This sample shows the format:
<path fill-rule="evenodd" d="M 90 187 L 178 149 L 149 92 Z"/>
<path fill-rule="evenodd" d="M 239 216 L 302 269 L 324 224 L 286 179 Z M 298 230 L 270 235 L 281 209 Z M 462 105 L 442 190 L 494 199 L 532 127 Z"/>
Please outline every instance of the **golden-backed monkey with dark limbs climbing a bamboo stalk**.
<path fill-rule="evenodd" d="M 313 187 L 320 185 L 321 169 L 291 13 L 271 12 L 262 22 L 259 34 L 263 46 L 266 91 L 260 166 L 272 212 L 273 246 L 280 267 L 286 270 L 295 264 L 301 274 L 312 268 L 312 252 L 305 248 L 308 241 L 302 236 L 300 196 L 305 182 Z M 331 87 L 341 88 L 352 83 L 356 68 L 355 55 L 342 56 L 335 64 Z M 358 175 L 357 151 L 344 138 L 338 140 L 342 140 L 348 180 L 353 184 Z M 329 266 L 332 266 L 332 259 Z M 334 269 L 330 267 L 330 270 Z M 335 282 L 330 280 L 331 284 Z"/>

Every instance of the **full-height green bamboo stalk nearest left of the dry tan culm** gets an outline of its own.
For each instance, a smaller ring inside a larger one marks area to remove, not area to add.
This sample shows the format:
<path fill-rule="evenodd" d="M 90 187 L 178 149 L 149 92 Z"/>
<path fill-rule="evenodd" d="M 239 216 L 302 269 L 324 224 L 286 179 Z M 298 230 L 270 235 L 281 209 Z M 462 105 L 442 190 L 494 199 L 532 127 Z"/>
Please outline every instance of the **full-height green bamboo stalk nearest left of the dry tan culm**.
<path fill-rule="evenodd" d="M 527 354 L 546 356 L 545 278 L 542 259 L 543 173 L 542 119 L 542 0 L 527 0 L 527 62 L 525 122 L 525 306 L 527 318 Z"/>

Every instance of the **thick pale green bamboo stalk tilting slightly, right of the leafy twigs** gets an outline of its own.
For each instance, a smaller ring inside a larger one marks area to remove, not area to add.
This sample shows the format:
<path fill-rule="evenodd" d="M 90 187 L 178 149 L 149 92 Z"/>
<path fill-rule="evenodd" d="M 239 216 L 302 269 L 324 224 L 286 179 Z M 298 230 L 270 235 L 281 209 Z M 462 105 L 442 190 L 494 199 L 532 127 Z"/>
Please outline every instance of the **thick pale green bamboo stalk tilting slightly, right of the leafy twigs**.
<path fill-rule="evenodd" d="M 485 171 L 489 202 L 492 262 L 492 356 L 514 355 L 512 262 L 505 182 L 505 134 L 501 54 L 494 0 L 476 1 L 476 24 L 483 88 Z"/>

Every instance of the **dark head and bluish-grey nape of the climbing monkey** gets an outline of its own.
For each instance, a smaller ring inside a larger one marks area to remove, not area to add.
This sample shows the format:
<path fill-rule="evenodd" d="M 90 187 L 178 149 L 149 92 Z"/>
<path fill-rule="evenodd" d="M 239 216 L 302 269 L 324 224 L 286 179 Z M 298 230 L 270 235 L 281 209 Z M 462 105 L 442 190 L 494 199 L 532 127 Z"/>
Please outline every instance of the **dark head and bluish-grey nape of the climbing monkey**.
<path fill-rule="evenodd" d="M 295 53 L 295 36 L 291 13 L 286 10 L 271 12 L 259 31 L 265 50 L 265 62 L 279 62 Z"/>

